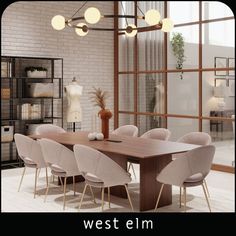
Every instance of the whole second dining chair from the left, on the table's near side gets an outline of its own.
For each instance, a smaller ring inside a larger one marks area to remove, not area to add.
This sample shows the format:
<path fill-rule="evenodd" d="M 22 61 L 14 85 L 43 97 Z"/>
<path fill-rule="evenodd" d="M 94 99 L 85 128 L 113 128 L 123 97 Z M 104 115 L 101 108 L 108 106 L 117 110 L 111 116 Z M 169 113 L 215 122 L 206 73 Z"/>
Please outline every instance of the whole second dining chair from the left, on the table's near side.
<path fill-rule="evenodd" d="M 51 173 L 59 177 L 61 185 L 63 186 L 63 210 L 65 210 L 66 180 L 68 177 L 73 177 L 73 189 L 75 195 L 75 176 L 80 175 L 79 169 L 75 161 L 74 153 L 64 145 L 50 139 L 42 138 L 39 140 L 39 143 L 41 145 L 45 162 L 50 167 Z M 62 181 L 62 178 L 64 178 L 64 183 Z M 44 201 L 46 201 L 48 191 L 49 184 L 45 192 Z"/>

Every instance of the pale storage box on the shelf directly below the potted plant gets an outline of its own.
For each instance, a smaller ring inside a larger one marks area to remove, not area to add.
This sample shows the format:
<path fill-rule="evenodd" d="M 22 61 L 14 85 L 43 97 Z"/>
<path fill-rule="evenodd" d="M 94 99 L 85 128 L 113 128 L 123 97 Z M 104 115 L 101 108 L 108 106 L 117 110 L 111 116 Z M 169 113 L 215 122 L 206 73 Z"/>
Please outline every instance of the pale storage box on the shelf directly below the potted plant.
<path fill-rule="evenodd" d="M 53 97 L 53 83 L 28 83 L 27 93 L 29 97 Z"/>

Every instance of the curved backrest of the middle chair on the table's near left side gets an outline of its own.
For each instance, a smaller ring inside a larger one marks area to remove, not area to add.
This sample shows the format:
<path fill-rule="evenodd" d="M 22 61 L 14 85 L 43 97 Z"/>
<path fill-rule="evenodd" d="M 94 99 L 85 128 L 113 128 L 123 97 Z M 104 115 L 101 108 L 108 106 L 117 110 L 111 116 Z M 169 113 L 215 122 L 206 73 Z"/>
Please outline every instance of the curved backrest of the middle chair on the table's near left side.
<path fill-rule="evenodd" d="M 66 172 L 67 176 L 75 176 L 79 174 L 73 151 L 51 139 L 43 138 L 39 140 L 39 143 L 45 161 L 49 166 L 59 166 Z"/>

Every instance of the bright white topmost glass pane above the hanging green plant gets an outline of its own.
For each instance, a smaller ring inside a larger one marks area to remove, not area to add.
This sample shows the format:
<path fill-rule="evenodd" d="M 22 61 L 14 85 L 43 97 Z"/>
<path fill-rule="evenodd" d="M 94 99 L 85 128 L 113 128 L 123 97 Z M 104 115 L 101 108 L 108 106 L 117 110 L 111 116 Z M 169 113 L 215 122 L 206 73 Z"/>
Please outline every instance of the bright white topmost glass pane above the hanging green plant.
<path fill-rule="evenodd" d="M 199 20 L 198 1 L 169 1 L 169 17 L 174 24 L 187 23 Z"/>

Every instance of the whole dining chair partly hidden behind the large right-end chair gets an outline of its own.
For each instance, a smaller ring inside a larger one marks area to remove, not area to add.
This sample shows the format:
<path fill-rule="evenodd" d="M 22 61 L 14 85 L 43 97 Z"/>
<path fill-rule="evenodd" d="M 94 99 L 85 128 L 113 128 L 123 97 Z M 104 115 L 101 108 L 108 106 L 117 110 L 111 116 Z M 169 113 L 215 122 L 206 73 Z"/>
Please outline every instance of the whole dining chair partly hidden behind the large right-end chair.
<path fill-rule="evenodd" d="M 177 142 L 205 146 L 205 145 L 211 144 L 211 136 L 208 133 L 205 133 L 205 132 L 190 132 L 190 133 L 187 133 L 184 136 L 180 137 L 177 140 Z M 183 157 L 184 155 L 185 155 L 185 153 L 178 153 L 178 154 L 172 155 L 172 157 L 173 157 L 173 159 L 175 159 L 175 158 Z M 209 193 L 209 190 L 208 190 L 207 183 L 206 183 L 205 179 L 203 180 L 203 183 L 205 184 L 208 197 L 210 197 L 210 193 Z M 182 192 L 182 189 L 180 188 L 180 191 L 179 191 L 179 207 L 181 207 L 181 196 L 182 196 L 181 192 Z"/>

